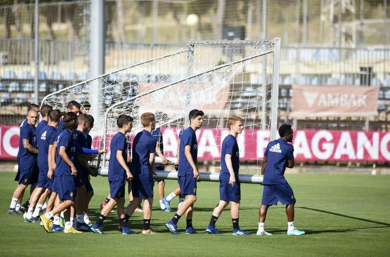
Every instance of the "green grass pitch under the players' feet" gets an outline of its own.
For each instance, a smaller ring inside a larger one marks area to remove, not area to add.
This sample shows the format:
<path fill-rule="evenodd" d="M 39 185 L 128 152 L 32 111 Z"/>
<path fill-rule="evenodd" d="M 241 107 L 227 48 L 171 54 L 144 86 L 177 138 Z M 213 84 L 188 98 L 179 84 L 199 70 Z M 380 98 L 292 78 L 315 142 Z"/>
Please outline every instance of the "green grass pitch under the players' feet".
<path fill-rule="evenodd" d="M 287 219 L 280 203 L 270 207 L 266 220 L 266 230 L 273 236 L 255 236 L 262 187 L 254 184 L 241 185 L 239 220 L 240 227 L 253 235 L 231 235 L 229 207 L 216 223 L 224 235 L 205 234 L 204 229 L 219 197 L 215 182 L 198 183 L 193 219 L 195 229 L 200 232 L 198 235 L 184 235 L 184 217 L 178 223 L 180 235 L 171 235 L 165 223 L 174 213 L 158 211 L 157 200 L 151 225 L 158 235 L 120 235 L 116 231 L 116 213 L 111 213 L 103 223 L 106 235 L 47 234 L 39 223 L 24 223 L 22 215 L 6 214 L 16 186 L 14 177 L 14 173 L 0 174 L 0 256 L 45 253 L 55 256 L 71 253 L 78 256 L 385 256 L 390 252 L 390 176 L 287 175 L 297 199 L 295 224 L 307 233 L 301 237 L 286 235 Z M 92 184 L 95 196 L 90 207 L 94 221 L 109 187 L 107 178 L 102 177 L 93 178 Z M 176 185 L 176 181 L 167 180 L 166 194 Z M 177 198 L 172 206 L 177 206 Z M 135 213 L 130 219 L 130 227 L 140 231 L 141 226 L 142 214 Z"/>

